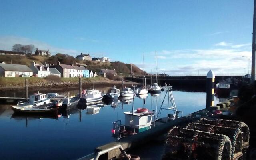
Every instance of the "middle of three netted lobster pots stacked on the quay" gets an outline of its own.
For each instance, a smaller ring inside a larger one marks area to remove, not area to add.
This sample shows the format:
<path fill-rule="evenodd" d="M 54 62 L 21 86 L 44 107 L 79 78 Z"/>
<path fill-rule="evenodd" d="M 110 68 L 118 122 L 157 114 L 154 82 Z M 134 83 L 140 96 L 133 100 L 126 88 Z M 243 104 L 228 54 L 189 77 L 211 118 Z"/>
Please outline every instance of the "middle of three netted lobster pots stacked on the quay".
<path fill-rule="evenodd" d="M 231 157 L 238 159 L 243 155 L 242 153 L 242 132 L 238 128 L 214 126 L 210 124 L 190 123 L 186 127 L 188 129 L 200 130 L 204 132 L 211 132 L 215 134 L 223 134 L 228 136 L 231 140 Z"/>

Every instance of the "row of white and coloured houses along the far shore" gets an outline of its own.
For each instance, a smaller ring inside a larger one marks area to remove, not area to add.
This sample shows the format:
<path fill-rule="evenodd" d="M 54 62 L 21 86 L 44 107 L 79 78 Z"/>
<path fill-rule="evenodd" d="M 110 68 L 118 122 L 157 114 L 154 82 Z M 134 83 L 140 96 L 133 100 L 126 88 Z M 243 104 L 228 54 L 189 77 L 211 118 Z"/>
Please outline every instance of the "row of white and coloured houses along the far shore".
<path fill-rule="evenodd" d="M 108 73 L 116 76 L 115 70 L 100 70 L 99 74 L 106 76 Z M 49 75 L 55 75 L 59 77 L 95 77 L 98 76 L 96 72 L 89 70 L 84 66 L 76 66 L 74 64 L 60 64 L 48 65 L 48 64 L 36 64 L 31 62 L 30 66 L 22 64 L 5 64 L 0 63 L 0 77 L 19 77 L 19 76 L 36 76 L 36 77 L 47 77 Z"/>

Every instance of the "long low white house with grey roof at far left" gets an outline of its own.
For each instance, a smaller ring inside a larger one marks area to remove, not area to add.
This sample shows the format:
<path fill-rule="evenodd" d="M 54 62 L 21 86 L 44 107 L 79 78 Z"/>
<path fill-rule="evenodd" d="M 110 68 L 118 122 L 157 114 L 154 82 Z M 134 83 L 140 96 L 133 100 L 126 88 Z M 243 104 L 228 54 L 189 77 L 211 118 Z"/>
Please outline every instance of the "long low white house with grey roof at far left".
<path fill-rule="evenodd" d="M 0 63 L 0 77 L 32 76 L 33 71 L 26 65 Z"/>

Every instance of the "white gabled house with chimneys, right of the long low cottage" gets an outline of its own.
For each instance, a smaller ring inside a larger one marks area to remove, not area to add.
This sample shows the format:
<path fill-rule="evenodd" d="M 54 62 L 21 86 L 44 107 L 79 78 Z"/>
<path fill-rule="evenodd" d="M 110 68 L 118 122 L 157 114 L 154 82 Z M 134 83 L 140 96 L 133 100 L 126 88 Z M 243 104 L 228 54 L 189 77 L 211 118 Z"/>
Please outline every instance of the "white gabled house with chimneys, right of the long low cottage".
<path fill-rule="evenodd" d="M 31 62 L 29 68 L 33 71 L 34 75 L 38 77 L 47 77 L 51 74 L 49 66 L 44 66 L 43 64 L 36 64 L 36 62 Z"/>

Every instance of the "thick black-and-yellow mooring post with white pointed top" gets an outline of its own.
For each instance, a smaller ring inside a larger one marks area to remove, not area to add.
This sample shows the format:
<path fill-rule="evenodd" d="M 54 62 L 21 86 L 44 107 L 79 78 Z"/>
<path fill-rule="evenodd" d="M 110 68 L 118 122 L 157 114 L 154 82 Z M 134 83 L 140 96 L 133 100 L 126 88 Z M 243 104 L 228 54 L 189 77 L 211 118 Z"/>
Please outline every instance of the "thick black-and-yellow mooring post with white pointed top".
<path fill-rule="evenodd" d="M 207 73 L 206 108 L 214 106 L 214 79 L 215 74 L 212 70 L 210 70 Z"/>

